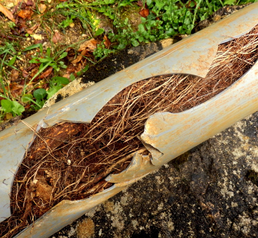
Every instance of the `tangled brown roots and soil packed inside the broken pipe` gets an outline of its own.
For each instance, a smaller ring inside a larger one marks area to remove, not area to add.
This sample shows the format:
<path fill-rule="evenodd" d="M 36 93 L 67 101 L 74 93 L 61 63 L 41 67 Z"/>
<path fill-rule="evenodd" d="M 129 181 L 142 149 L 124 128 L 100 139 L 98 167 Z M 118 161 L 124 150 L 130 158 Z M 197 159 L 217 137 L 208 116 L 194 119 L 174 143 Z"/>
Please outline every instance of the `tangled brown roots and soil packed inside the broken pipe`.
<path fill-rule="evenodd" d="M 182 112 L 214 97 L 240 78 L 258 58 L 258 25 L 219 45 L 206 78 L 162 75 L 128 86 L 90 124 L 59 123 L 41 129 L 12 186 L 12 216 L 0 223 L 1 237 L 12 237 L 63 199 L 89 197 L 112 185 L 104 180 L 125 169 L 137 138 L 155 112 Z"/>

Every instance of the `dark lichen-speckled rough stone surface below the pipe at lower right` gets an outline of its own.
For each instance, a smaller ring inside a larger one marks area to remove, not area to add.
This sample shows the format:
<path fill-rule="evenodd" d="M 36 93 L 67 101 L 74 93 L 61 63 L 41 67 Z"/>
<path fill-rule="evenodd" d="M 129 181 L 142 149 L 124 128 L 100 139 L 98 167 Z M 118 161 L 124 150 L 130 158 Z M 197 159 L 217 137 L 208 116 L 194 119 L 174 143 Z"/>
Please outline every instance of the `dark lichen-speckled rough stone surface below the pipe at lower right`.
<path fill-rule="evenodd" d="M 172 160 L 52 236 L 258 237 L 258 113 Z"/>

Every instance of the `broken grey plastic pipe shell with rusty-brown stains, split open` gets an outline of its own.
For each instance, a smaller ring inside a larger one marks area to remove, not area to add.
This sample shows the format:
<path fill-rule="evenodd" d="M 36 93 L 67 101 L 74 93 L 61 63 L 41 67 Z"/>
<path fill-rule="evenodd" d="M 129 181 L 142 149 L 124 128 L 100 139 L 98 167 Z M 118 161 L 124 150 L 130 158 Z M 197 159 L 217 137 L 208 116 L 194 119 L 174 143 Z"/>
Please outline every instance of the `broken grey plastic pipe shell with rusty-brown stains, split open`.
<path fill-rule="evenodd" d="M 258 3 L 253 3 L 0 132 L 0 221 L 11 215 L 12 183 L 26 150 L 35 138 L 35 131 L 57 122 L 89 123 L 118 92 L 145 78 L 171 73 L 205 77 L 218 45 L 244 35 L 257 23 Z M 141 135 L 151 156 L 135 152 L 127 169 L 106 178 L 106 181 L 114 183 L 112 187 L 87 199 L 61 201 L 15 237 L 49 237 L 129 184 L 256 112 L 257 80 L 256 62 L 237 82 L 205 103 L 181 113 L 153 114 L 147 119 Z"/>

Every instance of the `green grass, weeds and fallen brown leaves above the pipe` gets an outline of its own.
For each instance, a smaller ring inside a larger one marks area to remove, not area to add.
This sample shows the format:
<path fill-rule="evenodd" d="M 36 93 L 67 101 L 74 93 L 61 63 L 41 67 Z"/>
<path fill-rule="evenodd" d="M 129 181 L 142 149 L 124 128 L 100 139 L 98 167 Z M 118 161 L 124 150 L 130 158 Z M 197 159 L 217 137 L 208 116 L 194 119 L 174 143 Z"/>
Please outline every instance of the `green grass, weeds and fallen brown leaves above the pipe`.
<path fill-rule="evenodd" d="M 220 7 L 248 2 L 254 0 L 25 0 L 6 5 L 13 19 L 0 14 L 0 120 L 40 109 L 111 52 L 191 34 L 197 22 Z"/>

